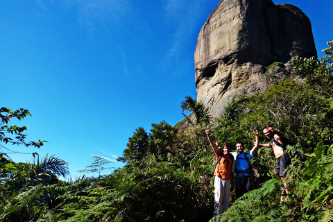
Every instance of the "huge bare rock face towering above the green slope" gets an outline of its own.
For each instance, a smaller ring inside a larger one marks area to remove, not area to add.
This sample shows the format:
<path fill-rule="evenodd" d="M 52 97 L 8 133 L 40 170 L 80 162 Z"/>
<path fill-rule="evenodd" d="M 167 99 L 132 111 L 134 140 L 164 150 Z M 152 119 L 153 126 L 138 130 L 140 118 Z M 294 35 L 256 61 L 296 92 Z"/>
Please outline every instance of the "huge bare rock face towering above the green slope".
<path fill-rule="evenodd" d="M 271 0 L 222 0 L 198 35 L 194 53 L 198 101 L 218 117 L 232 97 L 266 91 L 266 67 L 316 56 L 309 18 Z"/>

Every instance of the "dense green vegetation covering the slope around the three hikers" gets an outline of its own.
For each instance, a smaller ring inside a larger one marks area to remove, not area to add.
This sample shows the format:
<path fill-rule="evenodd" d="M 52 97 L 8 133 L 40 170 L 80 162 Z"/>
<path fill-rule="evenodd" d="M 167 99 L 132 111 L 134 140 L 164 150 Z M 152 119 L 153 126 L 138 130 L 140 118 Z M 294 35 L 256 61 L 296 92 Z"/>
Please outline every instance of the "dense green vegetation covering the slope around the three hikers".
<path fill-rule="evenodd" d="M 60 181 L 56 176 L 69 172 L 54 156 L 12 162 L 6 143 L 41 146 L 42 141 L 26 143 L 26 128 L 6 125 L 27 110 L 1 108 L 0 221 L 332 221 L 333 42 L 328 45 L 320 60 L 293 58 L 300 78 L 271 76 L 268 92 L 234 98 L 214 120 L 187 96 L 180 106 L 191 112 L 187 119 L 194 119 L 193 127 L 181 131 L 161 121 L 149 133 L 135 129 L 119 157 L 123 168 L 102 176 L 108 162 L 96 157 L 83 170 L 98 172 L 98 178 Z M 266 124 L 297 140 L 287 148 L 292 156 L 287 201 L 280 203 L 271 149 L 259 148 L 253 157 L 255 189 L 238 200 L 232 191 L 230 208 L 212 218 L 214 155 L 205 129 L 219 142 L 241 140 L 250 148 L 251 129 Z"/>

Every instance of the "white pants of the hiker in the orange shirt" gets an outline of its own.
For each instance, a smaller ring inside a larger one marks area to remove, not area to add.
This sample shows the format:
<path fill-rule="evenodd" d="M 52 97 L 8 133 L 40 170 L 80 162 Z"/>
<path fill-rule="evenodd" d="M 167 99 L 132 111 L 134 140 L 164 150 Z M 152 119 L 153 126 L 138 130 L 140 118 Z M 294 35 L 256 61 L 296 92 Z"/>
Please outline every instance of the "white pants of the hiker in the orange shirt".
<path fill-rule="evenodd" d="M 229 207 L 230 180 L 222 180 L 218 176 L 214 178 L 214 216 L 222 214 Z"/>

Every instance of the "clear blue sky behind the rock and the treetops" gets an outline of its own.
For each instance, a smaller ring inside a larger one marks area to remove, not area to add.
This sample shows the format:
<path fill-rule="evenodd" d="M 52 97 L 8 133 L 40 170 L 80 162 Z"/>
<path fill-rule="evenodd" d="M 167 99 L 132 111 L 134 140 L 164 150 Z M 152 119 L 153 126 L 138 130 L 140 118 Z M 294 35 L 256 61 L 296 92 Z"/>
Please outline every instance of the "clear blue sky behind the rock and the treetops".
<path fill-rule="evenodd" d="M 28 140 L 56 155 L 73 177 L 94 155 L 114 161 L 138 127 L 175 125 L 196 98 L 194 50 L 217 0 L 0 2 L 1 107 L 26 108 Z M 332 0 L 275 0 L 309 17 L 318 56 L 333 40 Z M 32 155 L 12 154 L 17 162 Z M 110 171 L 109 171 L 110 172 Z M 103 173 L 109 173 L 103 172 Z"/>

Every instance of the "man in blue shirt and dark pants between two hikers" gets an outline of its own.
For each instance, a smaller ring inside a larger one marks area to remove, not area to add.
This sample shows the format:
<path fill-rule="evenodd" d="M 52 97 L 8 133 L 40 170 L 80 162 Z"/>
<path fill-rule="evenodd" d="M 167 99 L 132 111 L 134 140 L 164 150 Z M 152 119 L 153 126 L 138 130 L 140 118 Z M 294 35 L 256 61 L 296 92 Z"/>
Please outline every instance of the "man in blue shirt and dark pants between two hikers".
<path fill-rule="evenodd" d="M 250 160 L 259 147 L 259 133 L 255 129 L 253 129 L 253 133 L 255 134 L 255 146 L 250 151 L 244 152 L 244 143 L 236 142 L 238 154 L 232 153 L 235 160 L 233 171 L 236 174 L 236 198 L 243 196 L 252 189 Z"/>

